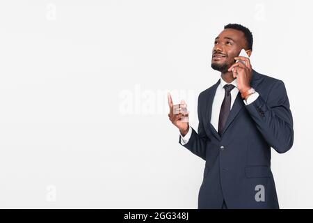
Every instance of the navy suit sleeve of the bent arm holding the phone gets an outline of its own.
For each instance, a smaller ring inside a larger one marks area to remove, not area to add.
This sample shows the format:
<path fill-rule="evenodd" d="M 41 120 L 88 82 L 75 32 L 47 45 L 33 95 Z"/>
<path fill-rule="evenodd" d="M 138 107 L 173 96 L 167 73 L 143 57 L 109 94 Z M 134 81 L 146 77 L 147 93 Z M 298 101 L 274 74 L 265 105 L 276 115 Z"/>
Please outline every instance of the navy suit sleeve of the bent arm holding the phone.
<path fill-rule="evenodd" d="M 292 114 L 284 82 L 273 84 L 265 102 L 262 95 L 246 109 L 267 143 L 278 153 L 285 153 L 294 144 Z"/>

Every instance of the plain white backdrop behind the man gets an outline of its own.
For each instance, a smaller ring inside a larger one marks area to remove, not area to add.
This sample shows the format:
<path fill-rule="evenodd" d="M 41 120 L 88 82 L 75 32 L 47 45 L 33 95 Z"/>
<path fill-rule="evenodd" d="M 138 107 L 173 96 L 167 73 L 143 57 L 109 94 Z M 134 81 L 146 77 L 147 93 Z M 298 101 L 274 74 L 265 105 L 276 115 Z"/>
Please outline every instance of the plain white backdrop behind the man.
<path fill-rule="evenodd" d="M 294 146 L 272 149 L 281 208 L 313 208 L 311 1 L 0 3 L 0 208 L 197 208 L 204 160 L 178 144 L 166 93 L 215 84 L 214 38 L 252 31 L 252 67 L 282 79 Z"/>

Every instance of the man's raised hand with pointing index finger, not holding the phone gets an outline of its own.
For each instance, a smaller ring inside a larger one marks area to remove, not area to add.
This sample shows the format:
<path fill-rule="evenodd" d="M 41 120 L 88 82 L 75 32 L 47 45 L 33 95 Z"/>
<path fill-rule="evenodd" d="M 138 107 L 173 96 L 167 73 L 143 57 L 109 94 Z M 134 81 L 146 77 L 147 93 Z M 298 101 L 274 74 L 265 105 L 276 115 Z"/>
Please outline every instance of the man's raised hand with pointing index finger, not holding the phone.
<path fill-rule="evenodd" d="M 180 134 L 184 137 L 189 130 L 186 102 L 182 100 L 179 105 L 173 105 L 172 96 L 168 93 L 168 106 L 170 107 L 170 114 L 168 114 L 170 121 L 179 129 Z"/>

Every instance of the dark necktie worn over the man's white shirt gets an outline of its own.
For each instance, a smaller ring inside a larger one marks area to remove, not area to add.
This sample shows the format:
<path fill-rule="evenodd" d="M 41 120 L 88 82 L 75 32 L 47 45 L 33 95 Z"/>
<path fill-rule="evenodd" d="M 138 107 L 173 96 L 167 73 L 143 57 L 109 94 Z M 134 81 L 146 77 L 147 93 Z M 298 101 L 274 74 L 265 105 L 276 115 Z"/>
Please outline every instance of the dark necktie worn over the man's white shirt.
<path fill-rule="evenodd" d="M 225 89 L 225 96 L 224 96 L 222 106 L 220 107 L 220 117 L 218 119 L 218 134 L 220 134 L 220 136 L 222 136 L 227 118 L 230 115 L 230 103 L 232 102 L 232 95 L 230 91 L 234 89 L 234 85 L 225 84 L 224 89 Z"/>

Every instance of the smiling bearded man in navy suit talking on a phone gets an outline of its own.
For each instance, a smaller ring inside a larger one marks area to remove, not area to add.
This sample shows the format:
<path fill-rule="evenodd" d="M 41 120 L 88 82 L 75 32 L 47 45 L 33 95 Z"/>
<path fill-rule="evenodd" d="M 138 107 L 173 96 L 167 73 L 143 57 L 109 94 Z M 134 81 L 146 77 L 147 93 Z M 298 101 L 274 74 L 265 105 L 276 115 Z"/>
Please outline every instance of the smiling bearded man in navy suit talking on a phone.
<path fill-rule="evenodd" d="M 205 160 L 198 208 L 279 208 L 271 147 L 287 152 L 294 143 L 293 119 L 284 83 L 252 70 L 252 33 L 227 24 L 216 37 L 211 68 L 220 79 L 198 98 L 198 133 L 174 114 L 179 143 Z M 238 61 L 238 62 L 236 62 Z M 244 63 L 243 63 L 244 62 Z M 186 105 L 182 105 L 185 108 Z"/>

